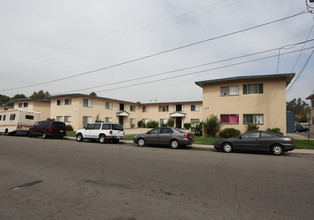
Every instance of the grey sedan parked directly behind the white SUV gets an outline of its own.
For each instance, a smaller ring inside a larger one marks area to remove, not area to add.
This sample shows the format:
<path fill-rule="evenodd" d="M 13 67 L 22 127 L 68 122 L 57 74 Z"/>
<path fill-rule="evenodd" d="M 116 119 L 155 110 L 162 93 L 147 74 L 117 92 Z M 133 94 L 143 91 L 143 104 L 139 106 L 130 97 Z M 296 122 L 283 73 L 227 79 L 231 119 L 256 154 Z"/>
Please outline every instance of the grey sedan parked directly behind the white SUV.
<path fill-rule="evenodd" d="M 146 144 L 156 144 L 170 145 L 173 149 L 176 149 L 180 146 L 191 145 L 193 143 L 193 135 L 177 128 L 161 127 L 136 135 L 133 141 L 139 147 L 143 147 Z"/>

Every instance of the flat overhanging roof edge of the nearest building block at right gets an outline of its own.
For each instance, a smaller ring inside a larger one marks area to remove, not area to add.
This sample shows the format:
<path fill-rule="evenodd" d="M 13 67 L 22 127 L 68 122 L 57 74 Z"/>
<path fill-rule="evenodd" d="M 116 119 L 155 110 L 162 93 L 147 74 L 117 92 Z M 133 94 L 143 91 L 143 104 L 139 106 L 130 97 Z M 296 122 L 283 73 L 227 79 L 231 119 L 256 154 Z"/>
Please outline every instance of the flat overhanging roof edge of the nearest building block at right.
<path fill-rule="evenodd" d="M 212 79 L 195 82 L 196 85 L 203 87 L 204 84 L 216 83 L 216 82 L 226 82 L 232 80 L 241 80 L 241 79 L 266 79 L 266 78 L 286 78 L 286 86 L 291 82 L 295 73 L 284 73 L 284 74 L 268 74 L 268 75 L 250 75 L 250 76 L 235 76 L 228 78 Z"/>

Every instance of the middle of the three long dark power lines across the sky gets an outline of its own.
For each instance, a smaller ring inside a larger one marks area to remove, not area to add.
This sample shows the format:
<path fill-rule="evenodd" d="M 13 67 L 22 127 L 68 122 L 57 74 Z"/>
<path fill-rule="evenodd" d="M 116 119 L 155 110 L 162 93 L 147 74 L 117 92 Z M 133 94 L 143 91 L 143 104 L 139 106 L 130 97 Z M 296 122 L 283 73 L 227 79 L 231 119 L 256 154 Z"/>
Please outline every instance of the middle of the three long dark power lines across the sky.
<path fill-rule="evenodd" d="M 246 58 L 246 57 L 255 56 L 255 55 L 259 55 L 259 54 L 263 54 L 263 53 L 268 53 L 268 52 L 280 50 L 280 49 L 285 48 L 285 47 L 297 46 L 297 45 L 300 45 L 300 44 L 304 44 L 305 45 L 305 43 L 311 42 L 311 41 L 314 41 L 314 39 L 310 39 L 310 40 L 307 39 L 306 41 L 303 41 L 303 42 L 299 42 L 299 43 L 295 43 L 295 44 L 289 44 L 289 45 L 285 45 L 283 47 L 278 47 L 278 48 L 274 48 L 274 49 L 264 50 L 264 51 L 260 51 L 260 52 L 256 52 L 256 53 L 247 54 L 247 55 L 232 57 L 232 58 L 228 58 L 228 59 L 223 59 L 223 60 L 218 60 L 218 61 L 214 61 L 214 62 L 199 64 L 199 65 L 195 65 L 195 66 L 180 68 L 180 69 L 171 70 L 171 71 L 162 72 L 162 73 L 157 73 L 157 74 L 151 74 L 151 75 L 148 75 L 148 76 L 137 77 L 137 78 L 133 78 L 133 79 L 127 79 L 127 80 L 123 80 L 123 81 L 119 81 L 119 82 L 113 82 L 113 83 L 103 84 L 103 85 L 99 85 L 99 86 L 93 86 L 93 87 L 88 87 L 88 88 L 83 88 L 83 89 L 67 91 L 67 92 L 63 92 L 63 93 L 71 93 L 71 92 L 78 92 L 78 91 L 82 91 L 82 90 L 96 89 L 96 88 L 100 88 L 100 87 L 104 87 L 104 86 L 112 86 L 112 85 L 122 84 L 122 83 L 126 83 L 126 82 L 132 82 L 132 81 L 136 81 L 136 80 L 152 78 L 152 77 L 161 76 L 161 75 L 165 75 L 165 74 L 169 74 L 169 73 L 180 72 L 180 71 L 194 69 L 194 68 L 198 68 L 198 67 L 202 67 L 202 66 L 208 66 L 208 65 L 213 65 L 213 64 L 226 62 L 226 61 L 236 60 L 236 59 L 240 59 L 240 58 Z M 302 49 L 304 49 L 304 47 Z"/>

